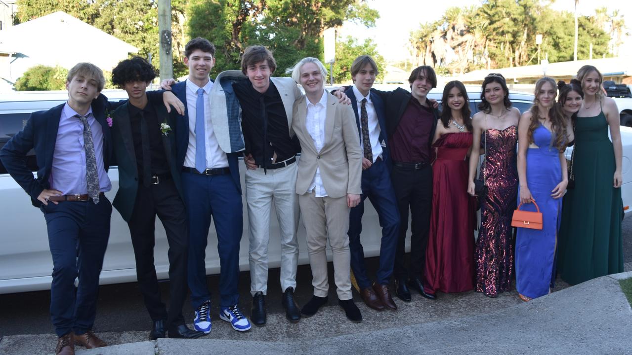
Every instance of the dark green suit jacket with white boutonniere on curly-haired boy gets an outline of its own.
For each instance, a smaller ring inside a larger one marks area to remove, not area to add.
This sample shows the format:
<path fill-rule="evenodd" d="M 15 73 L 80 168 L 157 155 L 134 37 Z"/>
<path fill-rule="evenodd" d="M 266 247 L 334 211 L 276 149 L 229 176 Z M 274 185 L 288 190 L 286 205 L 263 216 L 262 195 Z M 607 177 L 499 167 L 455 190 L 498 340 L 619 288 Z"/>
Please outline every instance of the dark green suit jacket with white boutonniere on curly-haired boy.
<path fill-rule="evenodd" d="M 138 168 L 136 164 L 136 154 L 134 151 L 134 142 L 131 135 L 130 124 L 130 102 L 127 101 L 112 112 L 112 146 L 116 162 L 118 163 L 119 172 L 119 189 L 116 192 L 112 206 L 114 206 L 123 219 L 129 222 L 131 214 L 134 211 L 136 202 L 136 194 L 138 192 Z M 170 127 L 175 127 L 177 115 L 167 113 L 162 100 L 150 99 L 149 105 L 153 105 L 156 117 L 159 122 L 164 122 Z M 180 170 L 176 166 L 176 151 L 172 149 L 175 146 L 175 134 L 169 132 L 167 136 L 162 134 L 162 145 L 165 149 L 167 163 L 171 168 L 171 177 L 178 189 L 180 198 L 183 199 L 182 183 L 180 179 Z"/>

